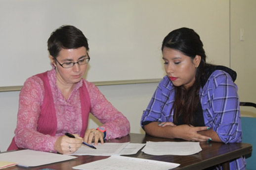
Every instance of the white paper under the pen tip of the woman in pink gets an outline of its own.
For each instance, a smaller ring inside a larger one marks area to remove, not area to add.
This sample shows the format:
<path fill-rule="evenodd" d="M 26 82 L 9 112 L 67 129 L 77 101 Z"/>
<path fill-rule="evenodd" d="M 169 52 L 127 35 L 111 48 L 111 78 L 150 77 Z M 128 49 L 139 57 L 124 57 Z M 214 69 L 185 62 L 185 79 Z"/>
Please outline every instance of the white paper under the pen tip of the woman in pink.
<path fill-rule="evenodd" d="M 97 149 L 92 149 L 88 146 L 82 145 L 76 152 L 70 155 L 94 155 L 94 156 L 111 156 L 118 155 L 122 149 L 124 149 L 129 142 L 125 143 L 111 143 L 104 144 L 98 143 L 94 145 Z"/>

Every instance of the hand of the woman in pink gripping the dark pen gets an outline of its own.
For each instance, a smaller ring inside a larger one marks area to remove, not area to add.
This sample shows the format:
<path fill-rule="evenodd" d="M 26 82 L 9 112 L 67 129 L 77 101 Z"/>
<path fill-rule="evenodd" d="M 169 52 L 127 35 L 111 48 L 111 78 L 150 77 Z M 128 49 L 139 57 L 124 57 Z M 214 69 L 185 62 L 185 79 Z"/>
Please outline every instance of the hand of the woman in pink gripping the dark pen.
<path fill-rule="evenodd" d="M 59 137 L 54 143 L 54 149 L 62 154 L 71 154 L 76 152 L 83 142 L 78 134 L 73 134 L 76 138 L 69 138 L 66 135 Z"/>

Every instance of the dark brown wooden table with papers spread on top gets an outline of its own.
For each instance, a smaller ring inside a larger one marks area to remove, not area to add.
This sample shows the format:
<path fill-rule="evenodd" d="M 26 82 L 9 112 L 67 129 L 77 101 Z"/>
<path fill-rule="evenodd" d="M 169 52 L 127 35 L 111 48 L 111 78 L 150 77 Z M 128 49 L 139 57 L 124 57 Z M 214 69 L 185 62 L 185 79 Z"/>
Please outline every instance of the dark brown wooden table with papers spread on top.
<path fill-rule="evenodd" d="M 173 142 L 181 142 L 183 140 L 170 140 L 164 138 L 156 138 L 149 135 L 143 134 L 129 134 L 126 137 L 121 139 L 112 139 L 106 142 L 132 142 L 132 143 L 145 143 L 147 141 L 153 142 L 163 142 L 163 141 L 173 141 Z M 229 160 L 240 157 L 241 155 L 252 153 L 252 145 L 248 143 L 229 143 L 224 144 L 220 142 L 200 142 L 200 146 L 202 147 L 202 151 L 188 156 L 176 156 L 176 155 L 163 155 L 163 156 L 155 156 L 148 155 L 144 152 L 138 151 L 137 154 L 134 155 L 125 155 L 129 157 L 136 158 L 144 158 L 151 159 L 157 161 L 166 161 L 171 163 L 180 164 L 179 167 L 174 170 L 202 170 L 214 165 L 223 165 L 223 169 L 229 169 Z M 12 168 L 8 168 L 6 170 L 42 170 L 45 168 L 53 169 L 53 170 L 74 170 L 72 167 L 89 163 L 92 161 L 100 160 L 108 158 L 108 156 L 78 156 L 76 159 L 58 162 L 54 164 L 48 164 L 40 167 L 32 167 L 32 168 L 23 168 L 19 166 L 15 166 Z"/>

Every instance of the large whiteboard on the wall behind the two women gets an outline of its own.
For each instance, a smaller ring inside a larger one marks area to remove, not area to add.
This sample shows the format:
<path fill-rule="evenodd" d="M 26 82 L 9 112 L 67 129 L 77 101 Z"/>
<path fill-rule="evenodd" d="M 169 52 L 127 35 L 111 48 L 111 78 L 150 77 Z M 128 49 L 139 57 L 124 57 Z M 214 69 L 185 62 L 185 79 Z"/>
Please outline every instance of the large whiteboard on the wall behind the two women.
<path fill-rule="evenodd" d="M 151 68 L 162 66 L 164 36 L 180 27 L 195 29 L 211 61 L 228 65 L 228 5 L 228 0 L 0 0 L 1 56 L 15 68 L 0 62 L 0 73 L 8 70 L 0 87 L 23 85 L 50 68 L 46 42 L 61 25 L 74 25 L 88 38 L 90 82 L 161 79 L 163 70 Z"/>

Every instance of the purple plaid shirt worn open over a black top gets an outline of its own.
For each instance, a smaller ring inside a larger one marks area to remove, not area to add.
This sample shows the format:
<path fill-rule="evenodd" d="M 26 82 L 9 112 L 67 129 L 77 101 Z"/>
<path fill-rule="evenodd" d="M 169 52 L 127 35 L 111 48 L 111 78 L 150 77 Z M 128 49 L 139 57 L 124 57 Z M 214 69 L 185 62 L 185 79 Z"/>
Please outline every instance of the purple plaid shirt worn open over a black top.
<path fill-rule="evenodd" d="M 213 128 L 224 143 L 241 142 L 242 130 L 237 85 L 229 74 L 215 70 L 206 85 L 200 88 L 200 101 L 205 125 Z M 174 88 L 165 76 L 159 83 L 147 109 L 141 117 L 142 122 L 173 122 L 171 107 L 174 101 Z M 244 170 L 245 159 L 230 162 L 230 170 Z"/>

